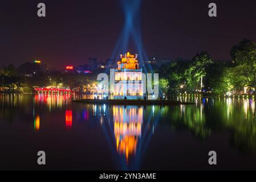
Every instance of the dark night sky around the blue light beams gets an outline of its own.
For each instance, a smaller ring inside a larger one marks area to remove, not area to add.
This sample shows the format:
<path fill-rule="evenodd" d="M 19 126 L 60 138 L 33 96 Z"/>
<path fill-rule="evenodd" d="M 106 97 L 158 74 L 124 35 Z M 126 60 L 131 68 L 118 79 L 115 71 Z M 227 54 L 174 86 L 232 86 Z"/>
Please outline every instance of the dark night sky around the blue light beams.
<path fill-rule="evenodd" d="M 46 4 L 44 18 L 37 16 L 40 2 Z M 217 4 L 216 18 L 208 16 L 210 2 Z M 229 60 L 231 46 L 244 38 L 256 41 L 255 2 L 142 0 L 137 18 L 143 48 L 149 57 L 191 59 L 208 51 L 213 59 Z M 0 66 L 40 59 L 48 68 L 62 69 L 86 64 L 89 57 L 105 61 L 124 19 L 119 0 L 1 1 Z M 128 47 L 137 51 L 132 42 Z"/>

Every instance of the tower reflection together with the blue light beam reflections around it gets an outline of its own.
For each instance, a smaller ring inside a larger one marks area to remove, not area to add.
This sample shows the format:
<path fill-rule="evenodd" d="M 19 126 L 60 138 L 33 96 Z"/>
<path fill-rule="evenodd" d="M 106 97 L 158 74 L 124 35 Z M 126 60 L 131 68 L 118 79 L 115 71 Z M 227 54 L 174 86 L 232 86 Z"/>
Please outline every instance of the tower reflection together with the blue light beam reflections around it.
<path fill-rule="evenodd" d="M 139 106 L 92 105 L 92 115 L 100 122 L 119 169 L 139 169 L 141 149 L 145 149 L 150 138 L 148 133 L 153 131 L 150 125 L 143 130 L 144 109 Z M 152 117 L 152 111 L 150 115 Z"/>

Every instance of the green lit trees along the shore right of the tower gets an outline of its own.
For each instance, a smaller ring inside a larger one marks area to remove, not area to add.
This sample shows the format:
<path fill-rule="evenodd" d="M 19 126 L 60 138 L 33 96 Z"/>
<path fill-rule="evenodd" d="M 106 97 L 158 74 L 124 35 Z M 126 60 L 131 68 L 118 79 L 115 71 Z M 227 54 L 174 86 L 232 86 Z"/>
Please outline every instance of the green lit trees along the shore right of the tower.
<path fill-rule="evenodd" d="M 240 93 L 244 86 L 256 88 L 255 42 L 242 40 L 231 48 L 230 55 L 232 61 L 213 61 L 207 52 L 201 52 L 190 63 L 162 65 L 160 77 L 168 80 L 169 93 L 195 92 L 204 87 L 214 94 L 225 94 Z"/>

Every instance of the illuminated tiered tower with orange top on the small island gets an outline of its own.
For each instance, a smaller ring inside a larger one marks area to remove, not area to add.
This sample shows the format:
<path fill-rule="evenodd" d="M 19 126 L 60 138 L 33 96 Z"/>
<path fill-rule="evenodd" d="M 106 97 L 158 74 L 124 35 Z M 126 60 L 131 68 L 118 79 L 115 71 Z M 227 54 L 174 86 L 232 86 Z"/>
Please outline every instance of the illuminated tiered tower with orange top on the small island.
<path fill-rule="evenodd" d="M 142 69 L 139 68 L 137 54 L 129 52 L 120 55 L 115 69 L 115 99 L 138 99 L 143 98 Z"/>

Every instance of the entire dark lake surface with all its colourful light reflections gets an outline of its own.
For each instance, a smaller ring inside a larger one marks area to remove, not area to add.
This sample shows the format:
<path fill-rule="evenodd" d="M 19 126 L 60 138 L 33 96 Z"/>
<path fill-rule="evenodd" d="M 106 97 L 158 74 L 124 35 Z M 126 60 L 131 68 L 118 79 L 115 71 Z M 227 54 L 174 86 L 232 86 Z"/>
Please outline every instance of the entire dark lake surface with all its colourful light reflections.
<path fill-rule="evenodd" d="M 253 98 L 140 107 L 68 98 L 0 94 L 0 169 L 256 169 Z M 37 164 L 40 150 L 45 166 Z M 212 150 L 215 166 L 208 164 Z"/>

